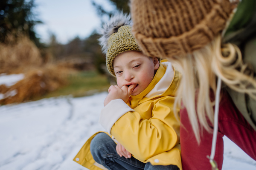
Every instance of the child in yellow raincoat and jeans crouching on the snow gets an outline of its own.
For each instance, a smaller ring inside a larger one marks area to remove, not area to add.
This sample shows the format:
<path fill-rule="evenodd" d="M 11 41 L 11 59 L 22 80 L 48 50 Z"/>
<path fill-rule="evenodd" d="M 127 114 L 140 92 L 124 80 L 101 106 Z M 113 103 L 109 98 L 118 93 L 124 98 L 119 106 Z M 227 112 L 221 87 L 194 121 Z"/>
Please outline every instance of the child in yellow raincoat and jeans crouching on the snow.
<path fill-rule="evenodd" d="M 129 16 L 118 14 L 104 26 L 100 41 L 117 81 L 99 118 L 108 133 L 91 136 L 74 161 L 90 170 L 181 170 L 180 123 L 173 112 L 179 72 L 145 56 L 130 25 Z"/>

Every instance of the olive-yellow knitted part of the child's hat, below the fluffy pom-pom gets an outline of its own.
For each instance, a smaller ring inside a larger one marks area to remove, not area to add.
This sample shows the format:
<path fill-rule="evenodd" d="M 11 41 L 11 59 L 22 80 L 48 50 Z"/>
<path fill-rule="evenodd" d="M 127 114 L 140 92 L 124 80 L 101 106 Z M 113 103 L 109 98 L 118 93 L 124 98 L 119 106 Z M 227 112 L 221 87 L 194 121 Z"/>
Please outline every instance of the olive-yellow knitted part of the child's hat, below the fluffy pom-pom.
<path fill-rule="evenodd" d="M 108 71 L 114 76 L 113 61 L 115 57 L 125 51 L 141 51 L 134 36 L 131 33 L 131 26 L 121 26 L 116 33 L 113 33 L 108 40 L 108 51 L 106 63 Z"/>

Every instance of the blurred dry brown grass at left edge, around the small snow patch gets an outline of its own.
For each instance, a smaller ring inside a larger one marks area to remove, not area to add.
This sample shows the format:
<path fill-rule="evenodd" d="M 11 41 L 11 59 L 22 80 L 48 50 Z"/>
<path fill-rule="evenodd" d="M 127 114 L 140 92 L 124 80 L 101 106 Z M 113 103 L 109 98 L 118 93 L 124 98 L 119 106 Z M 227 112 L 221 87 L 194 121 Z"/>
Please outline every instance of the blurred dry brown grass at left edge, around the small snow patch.
<path fill-rule="evenodd" d="M 24 102 L 54 91 L 67 82 L 68 68 L 43 64 L 39 49 L 26 36 L 0 44 L 0 73 L 24 74 L 24 79 L 11 87 L 0 85 L 0 105 Z"/>

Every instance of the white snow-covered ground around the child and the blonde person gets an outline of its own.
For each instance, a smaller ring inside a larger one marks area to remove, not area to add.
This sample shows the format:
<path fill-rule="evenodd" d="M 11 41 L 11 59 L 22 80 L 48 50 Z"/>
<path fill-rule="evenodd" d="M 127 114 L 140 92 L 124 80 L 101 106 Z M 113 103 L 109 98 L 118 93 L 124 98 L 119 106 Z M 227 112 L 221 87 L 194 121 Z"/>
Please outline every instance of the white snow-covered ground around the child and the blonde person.
<path fill-rule="evenodd" d="M 107 93 L 0 107 L 0 170 L 86 170 L 74 162 L 95 132 Z M 224 137 L 223 170 L 256 170 L 256 161 Z"/>

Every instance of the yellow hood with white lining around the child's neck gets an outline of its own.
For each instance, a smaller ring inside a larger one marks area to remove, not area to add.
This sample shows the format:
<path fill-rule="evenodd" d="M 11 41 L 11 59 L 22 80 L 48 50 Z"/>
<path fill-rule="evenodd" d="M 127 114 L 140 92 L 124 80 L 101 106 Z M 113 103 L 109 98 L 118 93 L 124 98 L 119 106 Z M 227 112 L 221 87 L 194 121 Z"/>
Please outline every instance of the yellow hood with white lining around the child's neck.
<path fill-rule="evenodd" d="M 175 96 L 180 74 L 167 59 L 160 62 L 154 79 L 147 88 L 136 96 L 131 95 L 131 108 L 156 97 Z"/>

